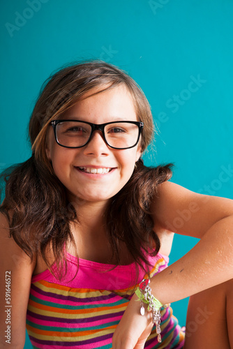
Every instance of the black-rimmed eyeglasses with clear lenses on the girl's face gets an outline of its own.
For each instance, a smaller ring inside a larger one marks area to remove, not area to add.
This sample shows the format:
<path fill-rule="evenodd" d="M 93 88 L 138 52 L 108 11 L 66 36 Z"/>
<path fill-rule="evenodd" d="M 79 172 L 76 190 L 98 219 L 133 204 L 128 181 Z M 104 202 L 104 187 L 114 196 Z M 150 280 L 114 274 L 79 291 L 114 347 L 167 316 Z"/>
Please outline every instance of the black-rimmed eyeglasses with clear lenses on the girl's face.
<path fill-rule="evenodd" d="M 79 120 L 51 121 L 57 144 L 66 148 L 82 148 L 94 131 L 101 131 L 107 145 L 114 149 L 129 149 L 137 145 L 142 133 L 143 122 L 114 121 L 106 124 L 92 124 Z"/>

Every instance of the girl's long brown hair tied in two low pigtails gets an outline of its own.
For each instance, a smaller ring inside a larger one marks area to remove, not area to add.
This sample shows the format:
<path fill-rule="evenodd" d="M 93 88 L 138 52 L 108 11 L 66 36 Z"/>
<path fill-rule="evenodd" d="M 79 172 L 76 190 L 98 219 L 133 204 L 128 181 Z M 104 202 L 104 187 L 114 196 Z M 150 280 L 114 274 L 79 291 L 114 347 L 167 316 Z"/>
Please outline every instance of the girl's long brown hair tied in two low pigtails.
<path fill-rule="evenodd" d="M 144 122 L 140 141 L 144 151 L 153 138 L 154 129 L 151 108 L 142 90 L 116 66 L 103 61 L 86 61 L 65 66 L 45 81 L 29 121 L 32 156 L 2 174 L 5 198 L 0 211 L 8 218 L 10 237 L 31 259 L 34 253 L 40 253 L 50 271 L 46 248 L 52 246 L 59 278 L 67 270 L 66 263 L 64 269 L 59 268 L 60 263 L 66 262 L 63 246 L 68 242 L 75 246 L 70 222 L 78 221 L 78 212 L 72 202 L 68 202 L 66 188 L 57 179 L 47 158 L 48 127 L 88 91 L 95 87 L 103 87 L 100 91 L 105 91 L 120 84 L 133 98 L 137 119 Z M 150 203 L 158 184 L 172 177 L 171 166 L 148 168 L 140 158 L 128 183 L 110 200 L 105 214 L 106 228 L 117 265 L 121 264 L 121 241 L 125 242 L 137 265 L 148 264 L 145 253 L 158 253 L 160 242 L 153 231 Z"/>

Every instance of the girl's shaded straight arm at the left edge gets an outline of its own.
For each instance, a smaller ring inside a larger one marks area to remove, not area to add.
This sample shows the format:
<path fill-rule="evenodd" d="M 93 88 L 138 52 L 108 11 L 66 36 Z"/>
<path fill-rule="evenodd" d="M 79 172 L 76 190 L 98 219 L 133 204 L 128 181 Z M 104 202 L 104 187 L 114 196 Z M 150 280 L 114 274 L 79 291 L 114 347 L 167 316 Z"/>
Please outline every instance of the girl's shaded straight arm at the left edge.
<path fill-rule="evenodd" d="M 31 262 L 31 259 L 17 246 L 15 240 L 9 238 L 8 223 L 2 214 L 0 215 L 0 256 L 0 347 L 22 349 L 24 348 L 27 304 L 35 260 Z M 8 286 L 10 292 L 7 292 Z M 5 331 L 9 328 L 10 343 L 7 343 Z"/>

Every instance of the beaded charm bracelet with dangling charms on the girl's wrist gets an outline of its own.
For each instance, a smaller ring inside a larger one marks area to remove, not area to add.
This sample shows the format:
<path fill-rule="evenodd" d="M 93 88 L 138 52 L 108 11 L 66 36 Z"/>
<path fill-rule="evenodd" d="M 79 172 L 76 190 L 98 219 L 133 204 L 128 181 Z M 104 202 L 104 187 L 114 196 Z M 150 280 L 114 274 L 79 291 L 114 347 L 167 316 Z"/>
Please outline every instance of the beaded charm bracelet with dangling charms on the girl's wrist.
<path fill-rule="evenodd" d="M 144 315 L 145 309 L 143 303 L 148 304 L 148 310 L 152 310 L 152 321 L 156 324 L 156 333 L 158 334 L 158 342 L 161 343 L 161 329 L 160 329 L 160 308 L 163 306 L 156 297 L 151 295 L 151 288 L 149 286 L 150 280 L 143 279 L 135 294 L 140 299 L 140 313 Z"/>

